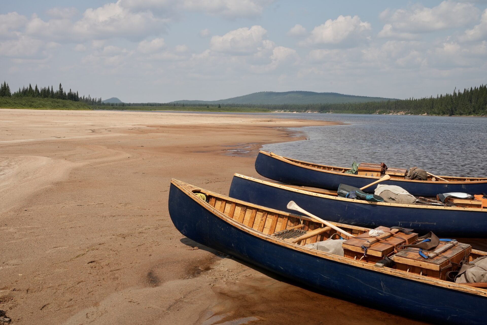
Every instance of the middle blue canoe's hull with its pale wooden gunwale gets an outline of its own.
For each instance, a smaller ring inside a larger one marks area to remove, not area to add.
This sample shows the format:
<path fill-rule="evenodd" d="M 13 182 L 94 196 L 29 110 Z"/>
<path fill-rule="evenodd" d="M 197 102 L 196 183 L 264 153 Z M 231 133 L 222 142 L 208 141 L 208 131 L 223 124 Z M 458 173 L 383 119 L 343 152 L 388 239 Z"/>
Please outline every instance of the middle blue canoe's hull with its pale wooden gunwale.
<path fill-rule="evenodd" d="M 229 196 L 287 212 L 292 212 L 286 205 L 293 200 L 304 210 L 325 220 L 360 227 L 399 226 L 420 233 L 432 231 L 445 236 L 487 237 L 487 209 L 369 202 L 323 193 L 235 174 Z"/>

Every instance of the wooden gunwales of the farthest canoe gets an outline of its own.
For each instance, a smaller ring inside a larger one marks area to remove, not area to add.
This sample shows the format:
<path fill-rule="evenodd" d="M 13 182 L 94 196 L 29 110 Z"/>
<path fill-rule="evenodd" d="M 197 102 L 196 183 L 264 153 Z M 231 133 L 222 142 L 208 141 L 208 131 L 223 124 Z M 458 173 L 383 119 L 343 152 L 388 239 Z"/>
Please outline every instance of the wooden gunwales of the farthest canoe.
<path fill-rule="evenodd" d="M 370 180 L 378 180 L 378 179 L 380 179 L 380 177 L 375 177 L 375 176 L 345 174 L 343 172 L 337 172 L 337 171 L 334 171 L 334 170 L 328 170 L 328 168 L 339 169 L 339 170 L 349 170 L 350 169 L 350 168 L 346 168 L 346 167 L 337 167 L 337 166 L 321 165 L 321 164 L 318 164 L 318 163 L 303 162 L 303 161 L 300 161 L 300 160 L 297 160 L 297 159 L 283 157 L 283 156 L 280 156 L 280 155 L 276 155 L 273 152 L 267 152 L 267 151 L 263 151 L 263 150 L 260 150 L 259 153 L 262 153 L 262 154 L 264 154 L 266 156 L 269 156 L 269 157 L 272 157 L 274 159 L 280 160 L 282 162 L 290 163 L 290 164 L 293 164 L 293 165 L 298 166 L 298 167 L 302 167 L 302 168 L 306 168 L 306 169 L 311 169 L 311 170 L 319 171 L 319 172 L 323 172 L 323 173 L 331 173 L 331 174 L 337 174 L 337 175 L 341 175 L 341 176 L 358 177 L 358 178 L 361 178 L 361 179 L 364 179 L 365 178 L 365 179 L 370 179 Z M 307 166 L 305 164 L 312 165 L 312 166 Z M 321 169 L 321 168 L 318 168 L 318 167 L 314 167 L 314 166 L 325 167 L 327 169 L 324 170 L 324 169 Z M 432 183 L 432 184 L 450 184 L 450 185 L 451 184 L 487 183 L 487 178 L 484 178 L 484 177 L 455 177 L 455 176 L 441 176 L 441 175 L 439 175 L 439 176 L 442 177 L 442 178 L 444 178 L 444 179 L 463 179 L 465 181 L 453 181 L 453 180 L 452 181 L 418 181 L 418 180 L 405 180 L 405 179 L 401 179 L 401 178 L 394 178 L 393 181 L 407 181 L 407 182 Z M 468 181 L 468 180 L 475 180 L 475 181 Z"/>

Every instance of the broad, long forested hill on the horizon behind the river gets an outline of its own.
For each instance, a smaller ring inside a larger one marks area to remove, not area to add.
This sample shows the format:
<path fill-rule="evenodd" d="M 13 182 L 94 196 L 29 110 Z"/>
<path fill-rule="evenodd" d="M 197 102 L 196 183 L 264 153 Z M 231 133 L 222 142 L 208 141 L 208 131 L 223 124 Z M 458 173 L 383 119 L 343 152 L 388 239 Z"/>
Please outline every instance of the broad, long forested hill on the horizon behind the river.
<path fill-rule="evenodd" d="M 248 95 L 214 101 L 180 100 L 181 104 L 337 104 L 379 102 L 392 98 L 344 95 L 337 92 L 314 91 L 261 91 Z"/>

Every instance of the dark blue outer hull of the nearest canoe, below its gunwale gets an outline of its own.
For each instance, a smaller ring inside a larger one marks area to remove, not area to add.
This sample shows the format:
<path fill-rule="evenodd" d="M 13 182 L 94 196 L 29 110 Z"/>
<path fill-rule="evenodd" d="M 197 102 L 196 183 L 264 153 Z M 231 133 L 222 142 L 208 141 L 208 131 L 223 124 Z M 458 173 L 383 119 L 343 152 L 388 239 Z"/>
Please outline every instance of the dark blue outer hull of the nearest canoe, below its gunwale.
<path fill-rule="evenodd" d="M 188 238 L 310 288 L 391 313 L 442 324 L 485 324 L 487 298 L 293 250 L 217 217 L 174 184 L 169 214 Z"/>

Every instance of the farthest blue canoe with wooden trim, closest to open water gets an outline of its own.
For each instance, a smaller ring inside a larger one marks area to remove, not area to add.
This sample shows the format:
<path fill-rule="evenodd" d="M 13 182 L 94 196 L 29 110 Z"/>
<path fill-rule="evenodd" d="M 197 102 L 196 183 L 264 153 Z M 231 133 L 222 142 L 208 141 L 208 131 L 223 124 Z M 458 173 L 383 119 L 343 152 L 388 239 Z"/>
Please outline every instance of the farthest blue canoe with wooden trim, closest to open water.
<path fill-rule="evenodd" d="M 350 168 L 319 165 L 286 158 L 271 152 L 260 151 L 255 161 L 255 170 L 268 179 L 287 184 L 311 186 L 337 190 L 340 184 L 363 187 L 380 177 L 345 174 Z M 391 180 L 381 184 L 397 185 L 414 196 L 436 197 L 437 194 L 449 192 L 466 192 L 469 194 L 487 193 L 487 178 L 468 178 L 440 176 L 447 181 L 412 181 L 404 177 L 391 175 Z M 374 193 L 375 186 L 365 192 Z"/>

